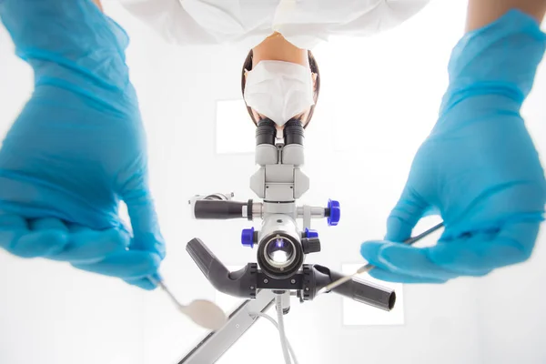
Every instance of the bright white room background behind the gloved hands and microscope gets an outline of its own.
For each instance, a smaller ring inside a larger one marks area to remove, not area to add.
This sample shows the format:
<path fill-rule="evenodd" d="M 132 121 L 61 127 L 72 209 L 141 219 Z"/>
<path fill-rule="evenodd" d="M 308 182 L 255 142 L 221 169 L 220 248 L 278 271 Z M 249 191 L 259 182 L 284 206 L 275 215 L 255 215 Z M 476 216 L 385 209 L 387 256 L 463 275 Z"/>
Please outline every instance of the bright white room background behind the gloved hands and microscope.
<path fill-rule="evenodd" d="M 436 1 L 394 31 L 334 39 L 314 50 L 322 89 L 307 132 L 311 190 L 301 202 L 339 199 L 343 217 L 339 227 L 315 224 L 323 251 L 309 260 L 341 270 L 359 264 L 363 240 L 384 235 L 411 159 L 435 123 L 450 49 L 462 35 L 464 3 Z M 163 273 L 181 300 L 219 299 L 229 306 L 229 300 L 217 298 L 185 246 L 199 237 L 228 265 L 255 261 L 254 251 L 241 247 L 238 238 L 248 223 L 192 221 L 186 201 L 231 190 L 243 200 L 254 197 L 248 188 L 254 160 L 244 147 L 252 143 L 253 126 L 244 112 L 230 119 L 217 113 L 217 100 L 240 99 L 247 50 L 164 45 L 115 2 L 106 2 L 106 11 L 132 36 L 127 59 L 147 123 L 153 192 L 167 238 Z M 0 65 L 3 135 L 32 90 L 30 69 L 13 56 L 5 31 Z M 524 108 L 541 156 L 545 97 L 542 66 Z M 241 149 L 233 148 L 238 145 Z M 403 325 L 344 325 L 347 312 L 333 295 L 294 302 L 286 317 L 288 338 L 303 364 L 544 363 L 544 243 L 542 235 L 528 262 L 487 278 L 404 286 Z M 204 334 L 160 292 L 0 252 L 2 364 L 174 364 Z M 281 360 L 275 329 L 261 321 L 220 364 Z"/>

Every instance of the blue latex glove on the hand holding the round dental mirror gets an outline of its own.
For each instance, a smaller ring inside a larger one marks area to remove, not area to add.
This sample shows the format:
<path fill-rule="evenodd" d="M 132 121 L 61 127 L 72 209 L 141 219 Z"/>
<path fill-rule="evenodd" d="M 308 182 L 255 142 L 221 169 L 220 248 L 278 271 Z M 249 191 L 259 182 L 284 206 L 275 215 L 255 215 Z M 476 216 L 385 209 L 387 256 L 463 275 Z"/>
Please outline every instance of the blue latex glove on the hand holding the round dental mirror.
<path fill-rule="evenodd" d="M 126 33 L 90 0 L 4 0 L 0 17 L 35 71 L 0 149 L 0 247 L 155 288 L 165 248 Z"/>

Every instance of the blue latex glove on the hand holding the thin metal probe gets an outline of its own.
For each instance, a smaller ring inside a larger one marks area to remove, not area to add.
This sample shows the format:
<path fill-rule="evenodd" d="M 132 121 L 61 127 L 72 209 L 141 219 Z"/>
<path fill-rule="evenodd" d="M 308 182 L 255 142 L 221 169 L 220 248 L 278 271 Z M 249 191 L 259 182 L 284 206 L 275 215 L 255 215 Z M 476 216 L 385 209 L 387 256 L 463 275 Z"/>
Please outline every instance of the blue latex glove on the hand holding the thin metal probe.
<path fill-rule="evenodd" d="M 378 267 L 371 276 L 442 283 L 531 256 L 546 183 L 520 109 L 545 46 L 536 21 L 511 11 L 454 48 L 440 119 L 413 161 L 387 241 L 360 248 Z M 399 244 L 421 217 L 438 212 L 446 229 L 435 247 Z"/>

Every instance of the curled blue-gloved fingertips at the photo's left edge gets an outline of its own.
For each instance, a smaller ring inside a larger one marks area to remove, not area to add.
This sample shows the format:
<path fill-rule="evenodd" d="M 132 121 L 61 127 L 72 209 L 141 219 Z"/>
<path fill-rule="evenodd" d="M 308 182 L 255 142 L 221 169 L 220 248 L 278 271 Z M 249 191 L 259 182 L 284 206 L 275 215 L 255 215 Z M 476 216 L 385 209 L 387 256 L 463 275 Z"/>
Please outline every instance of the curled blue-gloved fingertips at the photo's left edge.
<path fill-rule="evenodd" d="M 31 231 L 24 217 L 0 212 L 0 247 L 18 257 L 47 258 L 62 251 L 67 242 L 63 230 Z"/>

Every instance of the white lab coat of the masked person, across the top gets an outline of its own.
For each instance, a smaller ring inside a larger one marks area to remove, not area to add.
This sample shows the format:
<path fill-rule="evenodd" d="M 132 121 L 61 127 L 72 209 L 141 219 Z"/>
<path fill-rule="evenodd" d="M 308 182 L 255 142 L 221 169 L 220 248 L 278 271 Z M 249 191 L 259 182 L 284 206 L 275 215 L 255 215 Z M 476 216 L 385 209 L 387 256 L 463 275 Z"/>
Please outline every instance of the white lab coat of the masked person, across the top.
<path fill-rule="evenodd" d="M 252 48 L 273 31 L 311 49 L 332 35 L 366 36 L 416 15 L 430 0 L 119 0 L 167 42 Z"/>

